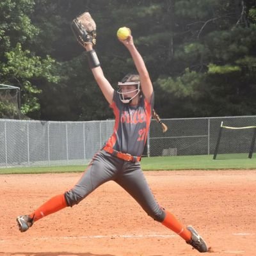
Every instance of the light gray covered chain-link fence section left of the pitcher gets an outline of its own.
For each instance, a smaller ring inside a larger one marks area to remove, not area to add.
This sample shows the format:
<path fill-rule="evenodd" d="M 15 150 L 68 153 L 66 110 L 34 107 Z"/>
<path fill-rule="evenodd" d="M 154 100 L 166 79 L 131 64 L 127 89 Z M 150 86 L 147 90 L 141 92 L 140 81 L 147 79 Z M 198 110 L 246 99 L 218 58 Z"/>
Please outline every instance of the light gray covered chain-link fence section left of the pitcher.
<path fill-rule="evenodd" d="M 86 164 L 109 138 L 113 124 L 2 119 L 0 166 Z"/>

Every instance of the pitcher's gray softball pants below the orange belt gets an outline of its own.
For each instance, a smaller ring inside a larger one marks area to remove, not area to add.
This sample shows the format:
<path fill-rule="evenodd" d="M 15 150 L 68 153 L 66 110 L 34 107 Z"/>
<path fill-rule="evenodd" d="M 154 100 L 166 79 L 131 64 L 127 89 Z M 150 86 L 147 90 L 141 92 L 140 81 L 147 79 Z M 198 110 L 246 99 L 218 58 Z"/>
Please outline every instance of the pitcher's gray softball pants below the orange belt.
<path fill-rule="evenodd" d="M 109 180 L 115 181 L 124 188 L 154 220 L 159 222 L 164 220 L 165 212 L 157 204 L 143 175 L 140 162 L 124 161 L 104 150 L 100 150 L 93 157 L 77 184 L 65 192 L 67 205 L 72 207 L 79 204 L 93 190 Z"/>

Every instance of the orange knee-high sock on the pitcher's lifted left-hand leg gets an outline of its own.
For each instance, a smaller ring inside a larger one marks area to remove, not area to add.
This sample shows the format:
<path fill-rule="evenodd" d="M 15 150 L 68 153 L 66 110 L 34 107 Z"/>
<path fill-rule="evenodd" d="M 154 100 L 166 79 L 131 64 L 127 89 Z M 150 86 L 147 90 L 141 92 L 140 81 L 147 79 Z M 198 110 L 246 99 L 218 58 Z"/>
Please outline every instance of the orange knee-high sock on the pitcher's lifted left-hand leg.
<path fill-rule="evenodd" d="M 53 196 L 50 200 L 41 205 L 35 212 L 29 215 L 34 221 L 67 207 L 67 202 L 64 195 Z"/>

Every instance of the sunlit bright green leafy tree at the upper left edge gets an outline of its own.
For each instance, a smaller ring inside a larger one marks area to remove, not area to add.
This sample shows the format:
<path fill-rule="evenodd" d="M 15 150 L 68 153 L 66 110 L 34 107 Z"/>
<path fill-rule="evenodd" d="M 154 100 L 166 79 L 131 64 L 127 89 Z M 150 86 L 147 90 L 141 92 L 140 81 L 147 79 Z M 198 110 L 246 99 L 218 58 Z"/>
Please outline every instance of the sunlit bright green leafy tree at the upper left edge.
<path fill-rule="evenodd" d="M 56 61 L 50 56 L 36 56 L 30 48 L 39 29 L 31 22 L 35 1 L 4 0 L 0 3 L 0 53 L 1 82 L 20 87 L 21 112 L 24 115 L 40 116 L 38 94 L 42 92 L 36 81 L 45 79 L 58 82 Z M 2 110 L 3 111 L 3 110 Z M 3 115 L 3 113 L 2 113 Z"/>

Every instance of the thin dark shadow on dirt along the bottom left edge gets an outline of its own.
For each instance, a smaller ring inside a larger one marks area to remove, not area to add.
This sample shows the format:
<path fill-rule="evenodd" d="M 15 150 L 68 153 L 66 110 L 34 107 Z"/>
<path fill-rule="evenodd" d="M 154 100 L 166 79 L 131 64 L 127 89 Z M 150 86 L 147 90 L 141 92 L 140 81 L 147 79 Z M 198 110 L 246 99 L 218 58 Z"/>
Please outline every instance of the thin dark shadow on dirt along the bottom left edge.
<path fill-rule="evenodd" d="M 0 252 L 0 256 L 115 256 L 112 254 L 95 254 L 90 252 Z"/>

